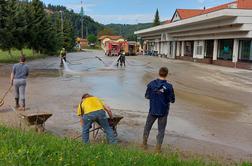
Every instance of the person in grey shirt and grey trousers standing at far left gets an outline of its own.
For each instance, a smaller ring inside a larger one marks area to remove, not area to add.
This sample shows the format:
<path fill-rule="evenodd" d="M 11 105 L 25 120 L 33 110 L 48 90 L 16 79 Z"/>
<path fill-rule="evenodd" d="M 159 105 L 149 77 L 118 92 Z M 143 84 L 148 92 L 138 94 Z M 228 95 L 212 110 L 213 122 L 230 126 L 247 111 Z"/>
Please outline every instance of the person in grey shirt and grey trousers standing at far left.
<path fill-rule="evenodd" d="M 14 64 L 11 72 L 11 86 L 15 88 L 15 102 L 16 108 L 21 111 L 25 111 L 25 88 L 26 79 L 29 75 L 29 68 L 25 64 L 26 58 L 24 55 L 20 56 L 19 63 Z M 19 100 L 22 104 L 19 105 Z"/>

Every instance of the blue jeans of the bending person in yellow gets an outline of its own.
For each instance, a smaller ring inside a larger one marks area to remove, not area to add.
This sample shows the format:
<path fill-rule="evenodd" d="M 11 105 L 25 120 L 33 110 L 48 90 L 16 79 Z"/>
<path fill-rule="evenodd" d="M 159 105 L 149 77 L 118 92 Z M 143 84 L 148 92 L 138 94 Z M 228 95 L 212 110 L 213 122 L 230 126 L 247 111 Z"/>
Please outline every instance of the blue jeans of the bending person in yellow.
<path fill-rule="evenodd" d="M 92 126 L 93 122 L 98 122 L 99 125 L 104 129 L 108 142 L 110 144 L 116 144 L 117 140 L 114 136 L 112 128 L 109 126 L 108 118 L 104 110 L 99 110 L 91 112 L 89 114 L 83 115 L 84 125 L 82 127 L 82 139 L 84 143 L 90 143 L 89 141 L 89 129 Z"/>

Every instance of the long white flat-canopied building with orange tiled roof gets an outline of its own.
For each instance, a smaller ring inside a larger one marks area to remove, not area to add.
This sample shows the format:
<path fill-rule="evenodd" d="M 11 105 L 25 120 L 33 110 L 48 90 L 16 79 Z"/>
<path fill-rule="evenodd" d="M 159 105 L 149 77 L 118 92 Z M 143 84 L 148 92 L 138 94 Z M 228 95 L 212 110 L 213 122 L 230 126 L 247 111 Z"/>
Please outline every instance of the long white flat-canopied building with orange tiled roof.
<path fill-rule="evenodd" d="M 168 58 L 252 69 L 252 0 L 177 9 L 166 24 L 135 34 L 145 51 Z"/>

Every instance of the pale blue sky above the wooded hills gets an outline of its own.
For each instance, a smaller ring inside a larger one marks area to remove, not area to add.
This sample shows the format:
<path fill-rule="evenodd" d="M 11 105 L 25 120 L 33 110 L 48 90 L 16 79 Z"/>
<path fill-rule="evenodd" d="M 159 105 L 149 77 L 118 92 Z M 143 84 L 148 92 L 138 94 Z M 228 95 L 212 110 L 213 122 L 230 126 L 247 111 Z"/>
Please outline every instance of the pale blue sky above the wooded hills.
<path fill-rule="evenodd" d="M 45 4 L 63 5 L 80 12 L 81 0 L 42 0 Z M 200 9 L 234 0 L 83 0 L 85 15 L 102 24 L 152 22 L 158 9 L 161 21 L 172 17 L 177 8 Z"/>

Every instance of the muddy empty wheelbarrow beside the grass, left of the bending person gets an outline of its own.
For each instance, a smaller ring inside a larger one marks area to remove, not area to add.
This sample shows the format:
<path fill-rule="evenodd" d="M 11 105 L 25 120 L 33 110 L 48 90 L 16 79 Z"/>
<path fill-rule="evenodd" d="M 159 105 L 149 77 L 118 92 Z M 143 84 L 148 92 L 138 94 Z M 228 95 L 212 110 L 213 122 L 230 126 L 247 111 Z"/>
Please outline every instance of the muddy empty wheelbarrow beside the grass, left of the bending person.
<path fill-rule="evenodd" d="M 34 127 L 35 131 L 42 133 L 45 131 L 45 122 L 49 119 L 51 113 L 29 113 L 22 112 L 18 113 L 19 117 L 25 122 L 28 127 Z"/>

